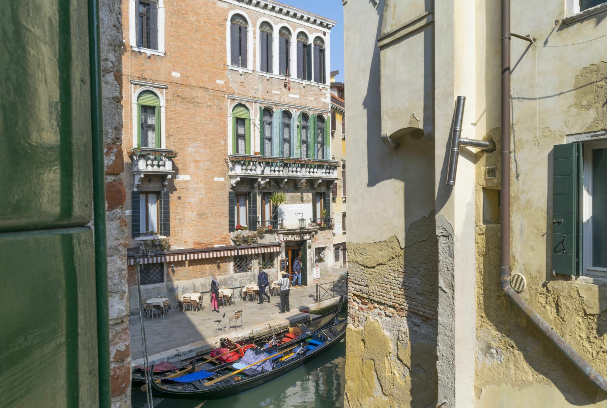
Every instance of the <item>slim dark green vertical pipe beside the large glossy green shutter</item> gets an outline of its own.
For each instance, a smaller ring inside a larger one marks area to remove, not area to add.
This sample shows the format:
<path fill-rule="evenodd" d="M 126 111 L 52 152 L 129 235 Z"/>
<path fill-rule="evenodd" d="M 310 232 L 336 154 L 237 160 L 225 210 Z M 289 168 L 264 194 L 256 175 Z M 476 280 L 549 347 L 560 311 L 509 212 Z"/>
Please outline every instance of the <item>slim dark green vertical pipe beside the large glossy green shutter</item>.
<path fill-rule="evenodd" d="M 97 298 L 97 359 L 99 406 L 110 407 L 110 334 L 107 302 L 106 181 L 101 110 L 101 33 L 99 0 L 88 0 L 90 124 L 93 155 L 93 224 L 95 226 L 95 294 Z"/>

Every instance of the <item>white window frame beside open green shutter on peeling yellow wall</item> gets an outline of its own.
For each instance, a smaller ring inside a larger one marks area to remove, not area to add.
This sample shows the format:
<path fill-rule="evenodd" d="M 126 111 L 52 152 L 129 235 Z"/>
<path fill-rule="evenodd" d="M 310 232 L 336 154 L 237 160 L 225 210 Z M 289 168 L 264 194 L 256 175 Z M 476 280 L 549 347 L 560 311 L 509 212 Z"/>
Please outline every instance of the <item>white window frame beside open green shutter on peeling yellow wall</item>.
<path fill-rule="evenodd" d="M 589 141 L 583 144 L 584 191 L 582 201 L 582 270 L 585 275 L 607 277 L 607 268 L 592 265 L 592 150 L 607 148 L 607 140 Z"/>

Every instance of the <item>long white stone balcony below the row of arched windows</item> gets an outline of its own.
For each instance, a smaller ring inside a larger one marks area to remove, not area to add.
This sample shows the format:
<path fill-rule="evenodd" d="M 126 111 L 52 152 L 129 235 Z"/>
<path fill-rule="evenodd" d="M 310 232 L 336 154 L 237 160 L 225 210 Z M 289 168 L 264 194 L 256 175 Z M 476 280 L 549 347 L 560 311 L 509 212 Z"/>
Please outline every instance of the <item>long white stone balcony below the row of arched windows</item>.
<path fill-rule="evenodd" d="M 228 165 L 232 186 L 236 186 L 236 183 L 242 180 L 253 178 L 259 185 L 274 179 L 281 187 L 290 180 L 297 180 L 298 186 L 302 186 L 304 180 L 308 180 L 317 187 L 322 182 L 333 183 L 337 180 L 339 161 L 233 154 L 228 156 Z"/>

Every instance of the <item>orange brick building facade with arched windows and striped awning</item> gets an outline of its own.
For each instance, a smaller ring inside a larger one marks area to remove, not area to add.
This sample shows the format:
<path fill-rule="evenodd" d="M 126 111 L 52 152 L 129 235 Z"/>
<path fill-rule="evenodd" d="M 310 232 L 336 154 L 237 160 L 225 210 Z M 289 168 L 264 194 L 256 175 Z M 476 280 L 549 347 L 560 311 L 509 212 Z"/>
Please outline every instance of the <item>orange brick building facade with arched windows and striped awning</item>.
<path fill-rule="evenodd" d="M 133 299 L 136 253 L 143 298 L 206 291 L 211 274 L 238 287 L 262 262 L 277 277 L 298 255 L 330 270 L 335 22 L 273 1 L 129 0 L 122 11 Z M 285 192 L 276 209 L 272 192 Z"/>

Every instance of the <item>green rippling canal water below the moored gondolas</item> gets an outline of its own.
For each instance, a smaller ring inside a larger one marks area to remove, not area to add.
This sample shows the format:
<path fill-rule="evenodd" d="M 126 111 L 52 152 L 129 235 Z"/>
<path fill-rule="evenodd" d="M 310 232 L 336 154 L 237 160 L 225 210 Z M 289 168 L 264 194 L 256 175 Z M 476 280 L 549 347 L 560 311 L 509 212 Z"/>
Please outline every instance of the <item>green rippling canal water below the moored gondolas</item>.
<path fill-rule="evenodd" d="M 154 397 L 155 408 L 341 408 L 344 406 L 345 341 L 268 384 L 212 401 Z M 134 408 L 147 408 L 145 393 L 132 392 Z"/>

